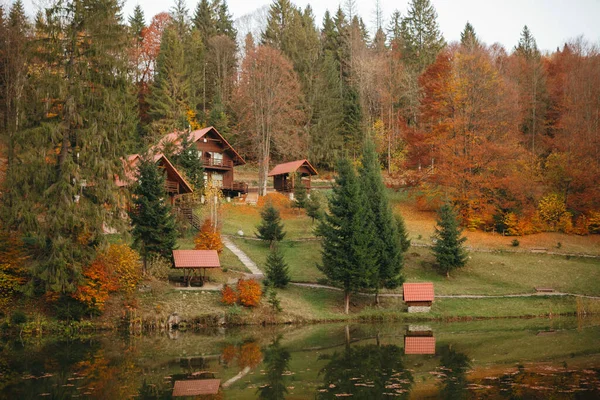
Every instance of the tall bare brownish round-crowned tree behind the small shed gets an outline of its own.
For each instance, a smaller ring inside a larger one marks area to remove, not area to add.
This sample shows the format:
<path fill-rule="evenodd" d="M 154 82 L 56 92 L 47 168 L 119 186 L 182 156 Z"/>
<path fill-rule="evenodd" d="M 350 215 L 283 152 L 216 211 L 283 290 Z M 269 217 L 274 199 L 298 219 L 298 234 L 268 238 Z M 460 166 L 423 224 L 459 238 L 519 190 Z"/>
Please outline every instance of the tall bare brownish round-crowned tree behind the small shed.
<path fill-rule="evenodd" d="M 300 156 L 306 149 L 302 135 L 302 92 L 291 63 L 276 49 L 258 46 L 242 63 L 235 98 L 238 135 L 253 138 L 259 162 L 259 194 L 267 190 L 271 154 Z"/>

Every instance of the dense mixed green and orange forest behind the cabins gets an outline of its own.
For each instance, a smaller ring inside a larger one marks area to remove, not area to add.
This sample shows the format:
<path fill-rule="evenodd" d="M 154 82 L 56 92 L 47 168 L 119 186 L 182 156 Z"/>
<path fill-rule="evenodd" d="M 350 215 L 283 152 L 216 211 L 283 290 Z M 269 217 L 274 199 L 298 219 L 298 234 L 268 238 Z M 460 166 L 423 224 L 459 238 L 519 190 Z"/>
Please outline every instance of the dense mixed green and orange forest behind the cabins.
<path fill-rule="evenodd" d="M 374 35 L 352 0 L 322 21 L 274 1 L 260 37 L 225 0 L 121 7 L 0 6 L 0 218 L 53 290 L 123 223 L 122 158 L 211 125 L 261 179 L 277 161 L 359 162 L 370 139 L 390 185 L 423 208 L 450 199 L 470 229 L 600 231 L 600 50 L 583 38 L 543 54 L 525 26 L 506 49 L 465 21 L 447 43 L 429 0 L 386 24 L 378 10 Z"/>

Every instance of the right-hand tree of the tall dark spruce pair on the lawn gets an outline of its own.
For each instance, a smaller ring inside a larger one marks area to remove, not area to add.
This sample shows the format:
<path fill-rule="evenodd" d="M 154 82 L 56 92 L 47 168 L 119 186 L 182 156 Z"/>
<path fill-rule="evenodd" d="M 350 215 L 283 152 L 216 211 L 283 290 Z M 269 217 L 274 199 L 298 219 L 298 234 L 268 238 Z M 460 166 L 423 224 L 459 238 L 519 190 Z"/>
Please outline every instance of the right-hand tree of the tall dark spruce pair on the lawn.
<path fill-rule="evenodd" d="M 365 207 L 370 208 L 376 226 L 374 246 L 370 250 L 371 257 L 378 260 L 378 271 L 373 276 L 372 285 L 376 290 L 376 301 L 379 302 L 381 288 L 394 289 L 403 282 L 400 271 L 404 260 L 398 245 L 398 226 L 381 179 L 381 167 L 375 145 L 371 141 L 363 148 L 362 167 L 359 172 L 361 190 L 366 197 Z"/>

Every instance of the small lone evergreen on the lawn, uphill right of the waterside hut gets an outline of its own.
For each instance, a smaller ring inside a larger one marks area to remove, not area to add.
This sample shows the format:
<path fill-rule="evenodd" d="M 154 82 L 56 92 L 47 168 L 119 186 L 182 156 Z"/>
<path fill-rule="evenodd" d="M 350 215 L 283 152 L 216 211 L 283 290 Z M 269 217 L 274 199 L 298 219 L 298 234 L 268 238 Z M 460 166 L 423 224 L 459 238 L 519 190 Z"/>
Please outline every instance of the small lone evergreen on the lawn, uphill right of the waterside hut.
<path fill-rule="evenodd" d="M 463 243 L 467 238 L 461 237 L 462 229 L 458 225 L 456 212 L 445 203 L 438 210 L 438 220 L 435 227 L 433 254 L 440 272 L 450 277 L 450 271 L 464 267 L 468 255 Z"/>

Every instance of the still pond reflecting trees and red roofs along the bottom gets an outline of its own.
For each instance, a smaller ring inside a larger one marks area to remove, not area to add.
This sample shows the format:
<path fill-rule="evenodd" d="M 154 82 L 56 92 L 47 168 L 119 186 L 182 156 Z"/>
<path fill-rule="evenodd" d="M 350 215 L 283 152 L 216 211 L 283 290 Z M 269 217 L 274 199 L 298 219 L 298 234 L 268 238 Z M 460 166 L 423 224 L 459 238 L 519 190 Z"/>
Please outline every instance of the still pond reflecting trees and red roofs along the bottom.
<path fill-rule="evenodd" d="M 600 320 L 0 342 L 2 399 L 598 399 Z"/>

